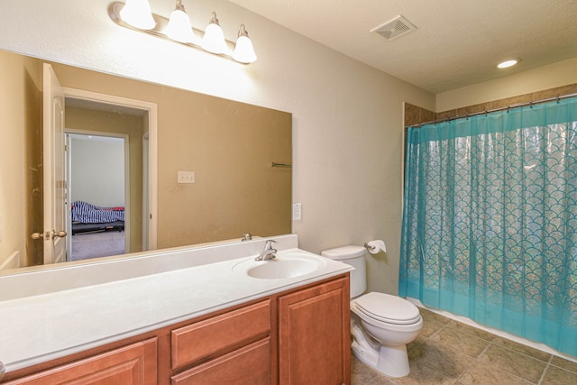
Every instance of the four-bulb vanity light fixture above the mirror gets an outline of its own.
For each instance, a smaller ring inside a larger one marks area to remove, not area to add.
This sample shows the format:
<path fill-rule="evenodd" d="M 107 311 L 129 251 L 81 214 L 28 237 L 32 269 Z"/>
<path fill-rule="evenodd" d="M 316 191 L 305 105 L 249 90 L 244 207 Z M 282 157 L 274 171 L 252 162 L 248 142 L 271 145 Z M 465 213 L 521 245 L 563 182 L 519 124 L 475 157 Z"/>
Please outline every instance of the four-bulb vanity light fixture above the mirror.
<path fill-rule="evenodd" d="M 125 4 L 114 2 L 108 7 L 108 15 L 114 23 L 125 28 L 177 41 L 188 47 L 206 50 L 226 59 L 243 64 L 249 64 L 256 60 L 252 41 L 244 28 L 244 24 L 239 27 L 236 44 L 224 40 L 224 33 L 215 12 L 210 15 L 206 32 L 199 31 L 191 26 L 182 0 L 176 1 L 170 19 L 152 14 L 148 0 L 126 0 Z M 202 36 L 202 40 L 197 36 Z"/>

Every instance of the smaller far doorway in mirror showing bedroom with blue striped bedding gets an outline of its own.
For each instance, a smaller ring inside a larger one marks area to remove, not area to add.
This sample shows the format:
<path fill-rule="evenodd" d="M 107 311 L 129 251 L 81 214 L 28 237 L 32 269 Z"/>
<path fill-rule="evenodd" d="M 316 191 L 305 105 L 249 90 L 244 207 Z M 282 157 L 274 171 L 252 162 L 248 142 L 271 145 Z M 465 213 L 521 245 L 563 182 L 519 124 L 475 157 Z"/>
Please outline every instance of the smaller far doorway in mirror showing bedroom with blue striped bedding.
<path fill-rule="evenodd" d="M 129 252 L 124 227 L 130 173 L 126 135 L 67 133 L 69 261 Z"/>

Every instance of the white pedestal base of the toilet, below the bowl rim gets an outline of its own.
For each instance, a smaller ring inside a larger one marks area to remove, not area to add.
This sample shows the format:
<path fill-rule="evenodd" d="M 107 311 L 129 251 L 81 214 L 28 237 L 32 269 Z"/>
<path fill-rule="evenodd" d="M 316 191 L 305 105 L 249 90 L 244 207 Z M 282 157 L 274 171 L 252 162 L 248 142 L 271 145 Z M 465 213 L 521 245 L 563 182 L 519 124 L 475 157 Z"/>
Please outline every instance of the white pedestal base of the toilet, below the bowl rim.
<path fill-rule="evenodd" d="M 410 373 L 407 345 L 385 346 L 363 333 L 359 325 L 352 325 L 354 356 L 361 362 L 389 377 L 405 377 Z"/>

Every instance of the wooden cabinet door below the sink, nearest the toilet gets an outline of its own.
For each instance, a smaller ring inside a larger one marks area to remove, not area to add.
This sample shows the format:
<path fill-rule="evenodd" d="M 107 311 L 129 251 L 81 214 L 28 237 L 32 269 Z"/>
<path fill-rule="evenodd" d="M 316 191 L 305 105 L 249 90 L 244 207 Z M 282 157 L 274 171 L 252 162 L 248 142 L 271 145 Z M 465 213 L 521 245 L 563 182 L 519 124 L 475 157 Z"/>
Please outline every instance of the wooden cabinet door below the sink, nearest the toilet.
<path fill-rule="evenodd" d="M 279 298 L 280 384 L 351 383 L 349 280 Z"/>

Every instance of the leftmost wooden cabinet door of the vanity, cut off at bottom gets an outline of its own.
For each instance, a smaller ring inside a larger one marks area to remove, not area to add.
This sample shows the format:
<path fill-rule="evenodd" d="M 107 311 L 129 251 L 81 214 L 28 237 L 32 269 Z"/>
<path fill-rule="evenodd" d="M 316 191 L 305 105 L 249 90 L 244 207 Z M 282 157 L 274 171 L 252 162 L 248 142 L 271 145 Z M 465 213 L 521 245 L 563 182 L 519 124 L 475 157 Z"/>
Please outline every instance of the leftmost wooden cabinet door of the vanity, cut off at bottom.
<path fill-rule="evenodd" d="M 157 382 L 156 338 L 41 371 L 7 384 L 144 384 Z"/>

